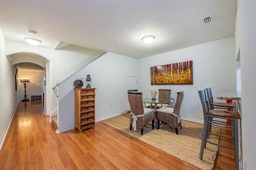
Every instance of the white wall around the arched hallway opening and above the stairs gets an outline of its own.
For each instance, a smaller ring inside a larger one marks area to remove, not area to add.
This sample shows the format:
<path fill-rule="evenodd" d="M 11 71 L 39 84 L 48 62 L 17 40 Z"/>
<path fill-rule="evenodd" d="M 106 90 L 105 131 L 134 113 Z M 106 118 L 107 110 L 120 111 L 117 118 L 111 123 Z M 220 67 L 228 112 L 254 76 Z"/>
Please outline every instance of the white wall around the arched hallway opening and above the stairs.
<path fill-rule="evenodd" d="M 76 45 L 70 45 L 57 50 L 46 49 L 42 47 L 36 47 L 32 45 L 26 45 L 21 43 L 15 43 L 12 41 L 5 41 L 5 55 L 11 55 L 15 53 L 34 53 L 46 58 L 50 61 L 50 88 L 45 94 L 51 94 L 51 112 L 57 109 L 57 96 L 52 90 L 55 86 L 55 80 L 59 82 L 80 70 L 88 63 L 97 59 L 100 55 L 104 54 L 102 51 L 96 51 Z M 39 64 L 40 65 L 40 64 Z M 49 77 L 48 76 L 48 77 Z M 47 113 L 51 115 L 52 113 Z"/>

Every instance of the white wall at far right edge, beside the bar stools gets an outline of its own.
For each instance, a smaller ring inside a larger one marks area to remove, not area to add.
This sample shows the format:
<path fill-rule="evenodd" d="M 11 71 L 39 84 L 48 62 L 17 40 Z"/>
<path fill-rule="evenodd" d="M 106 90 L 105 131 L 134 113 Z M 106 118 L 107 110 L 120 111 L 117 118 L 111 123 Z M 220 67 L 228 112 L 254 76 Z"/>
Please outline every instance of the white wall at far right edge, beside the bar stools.
<path fill-rule="evenodd" d="M 240 50 L 243 169 L 256 168 L 256 1 L 238 0 L 236 55 Z"/>

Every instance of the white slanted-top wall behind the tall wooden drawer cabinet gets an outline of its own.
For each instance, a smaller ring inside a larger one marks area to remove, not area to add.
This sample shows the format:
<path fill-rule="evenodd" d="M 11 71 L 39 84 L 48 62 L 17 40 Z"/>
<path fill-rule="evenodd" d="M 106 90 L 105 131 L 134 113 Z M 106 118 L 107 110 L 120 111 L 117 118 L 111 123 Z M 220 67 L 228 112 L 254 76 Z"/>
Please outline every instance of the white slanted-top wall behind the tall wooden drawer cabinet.
<path fill-rule="evenodd" d="M 58 85 L 58 132 L 74 129 L 74 81 L 87 74 L 96 89 L 96 121 L 127 113 L 126 76 L 138 74 L 137 59 L 106 53 Z M 113 107 L 110 108 L 110 104 Z"/>

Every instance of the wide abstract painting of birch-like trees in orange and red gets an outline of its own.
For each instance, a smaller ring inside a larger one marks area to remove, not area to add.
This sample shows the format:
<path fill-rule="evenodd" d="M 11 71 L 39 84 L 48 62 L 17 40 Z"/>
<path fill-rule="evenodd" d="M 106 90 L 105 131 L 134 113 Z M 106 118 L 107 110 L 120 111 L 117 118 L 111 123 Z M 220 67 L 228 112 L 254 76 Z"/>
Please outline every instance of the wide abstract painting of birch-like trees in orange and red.
<path fill-rule="evenodd" d="M 150 67 L 151 85 L 193 84 L 192 61 Z"/>

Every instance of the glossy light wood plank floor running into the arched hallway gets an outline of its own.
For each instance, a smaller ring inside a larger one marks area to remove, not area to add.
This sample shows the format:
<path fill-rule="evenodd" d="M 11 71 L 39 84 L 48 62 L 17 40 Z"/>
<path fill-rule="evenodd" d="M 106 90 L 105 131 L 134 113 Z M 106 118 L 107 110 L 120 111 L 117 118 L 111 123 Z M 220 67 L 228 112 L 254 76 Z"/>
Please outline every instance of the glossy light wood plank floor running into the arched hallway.
<path fill-rule="evenodd" d="M 1 170 L 198 170 L 100 122 L 82 133 L 72 129 L 57 134 L 42 107 L 42 100 L 19 102 L 0 151 Z M 234 152 L 220 148 L 214 169 L 235 169 Z"/>

